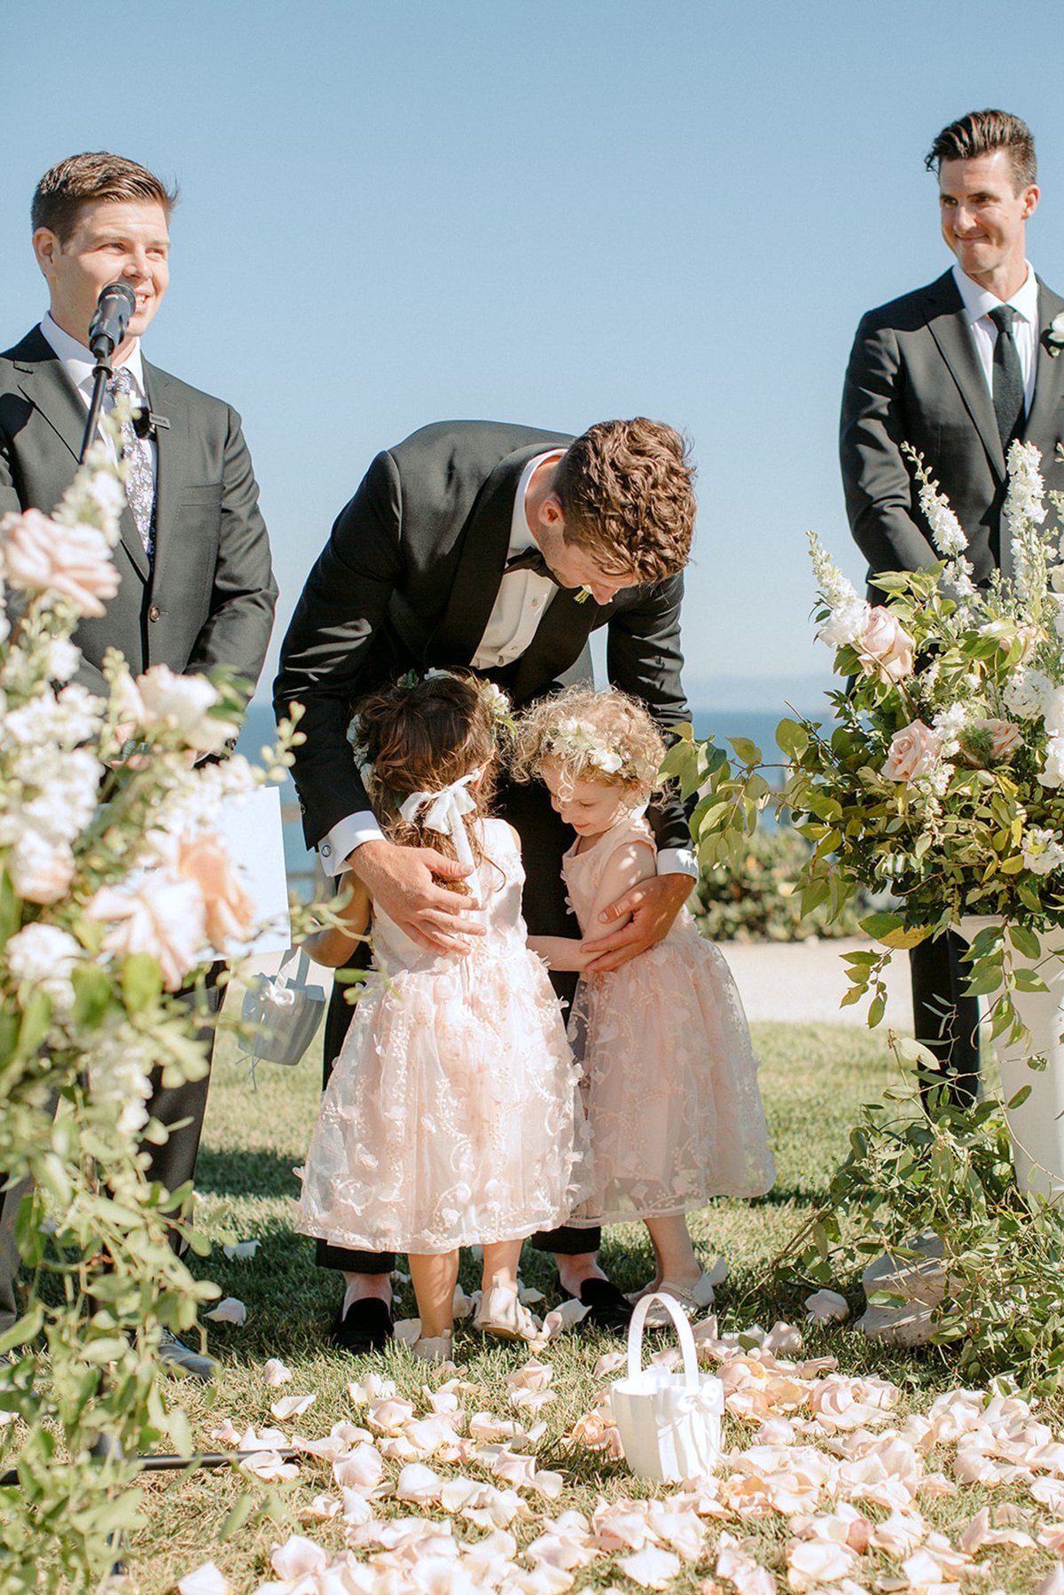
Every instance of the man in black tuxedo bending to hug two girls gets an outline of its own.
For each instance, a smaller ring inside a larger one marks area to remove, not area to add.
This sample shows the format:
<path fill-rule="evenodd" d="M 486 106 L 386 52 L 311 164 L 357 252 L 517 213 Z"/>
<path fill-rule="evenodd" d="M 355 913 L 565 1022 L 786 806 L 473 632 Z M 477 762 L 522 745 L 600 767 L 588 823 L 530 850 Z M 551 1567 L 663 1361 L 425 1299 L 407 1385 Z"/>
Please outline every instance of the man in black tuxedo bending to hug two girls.
<path fill-rule="evenodd" d="M 643 699 L 664 727 L 689 718 L 680 684 L 683 566 L 694 526 L 683 440 L 659 423 L 609 421 L 579 439 L 490 421 L 428 426 L 376 456 L 309 574 L 274 687 L 279 715 L 305 705 L 295 783 L 308 845 L 330 874 L 351 869 L 426 947 L 461 952 L 467 896 L 432 874 L 464 871 L 439 853 L 388 842 L 346 742 L 357 699 L 407 670 L 455 667 L 496 681 L 520 707 L 574 673 L 608 627 L 614 686 Z M 522 834 L 533 933 L 571 933 L 560 879 L 571 841 L 546 790 L 506 788 L 501 812 Z M 621 928 L 592 968 L 617 968 L 665 935 L 691 890 L 683 807 L 652 815 L 659 877 L 614 904 Z M 349 1008 L 325 1038 L 329 1073 Z M 649 1067 L 649 1061 L 648 1061 Z M 598 1270 L 598 1233 L 538 1238 L 558 1260 L 562 1290 L 593 1322 L 621 1327 L 630 1308 Z M 349 1349 L 391 1333 L 391 1255 L 319 1244 L 348 1290 L 333 1330 Z"/>

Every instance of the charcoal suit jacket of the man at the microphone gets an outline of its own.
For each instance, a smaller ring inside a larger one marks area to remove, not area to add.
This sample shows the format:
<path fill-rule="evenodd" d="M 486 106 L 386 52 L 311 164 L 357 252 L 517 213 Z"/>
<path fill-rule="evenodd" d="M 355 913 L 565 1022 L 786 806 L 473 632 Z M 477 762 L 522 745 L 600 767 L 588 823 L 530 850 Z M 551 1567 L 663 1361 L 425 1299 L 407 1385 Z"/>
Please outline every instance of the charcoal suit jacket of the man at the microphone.
<path fill-rule="evenodd" d="M 152 410 L 169 421 L 156 431 L 155 565 L 123 510 L 121 584 L 102 619 L 78 625 L 78 679 L 105 691 L 104 654 L 120 648 L 134 675 L 158 664 L 193 673 L 230 665 L 254 684 L 278 589 L 239 416 L 147 360 L 144 380 Z M 77 469 L 85 419 L 40 329 L 0 356 L 0 514 L 56 507 Z"/>

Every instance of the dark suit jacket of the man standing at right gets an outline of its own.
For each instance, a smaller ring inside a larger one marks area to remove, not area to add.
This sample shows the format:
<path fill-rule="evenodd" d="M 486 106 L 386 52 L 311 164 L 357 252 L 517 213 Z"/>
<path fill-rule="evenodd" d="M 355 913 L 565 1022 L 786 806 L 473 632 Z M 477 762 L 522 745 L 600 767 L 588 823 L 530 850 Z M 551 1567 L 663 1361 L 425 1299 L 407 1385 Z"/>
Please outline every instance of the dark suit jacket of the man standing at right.
<path fill-rule="evenodd" d="M 1024 440 L 1042 450 L 1046 488 L 1064 491 L 1064 357 L 1046 327 L 1064 311 L 1038 281 L 1038 357 Z M 1002 547 L 1005 456 L 994 404 L 952 271 L 930 287 L 869 311 L 857 329 L 842 394 L 841 461 L 853 539 L 877 571 L 925 569 L 938 560 L 901 443 L 919 450 L 967 538 L 975 581 L 986 582 Z"/>

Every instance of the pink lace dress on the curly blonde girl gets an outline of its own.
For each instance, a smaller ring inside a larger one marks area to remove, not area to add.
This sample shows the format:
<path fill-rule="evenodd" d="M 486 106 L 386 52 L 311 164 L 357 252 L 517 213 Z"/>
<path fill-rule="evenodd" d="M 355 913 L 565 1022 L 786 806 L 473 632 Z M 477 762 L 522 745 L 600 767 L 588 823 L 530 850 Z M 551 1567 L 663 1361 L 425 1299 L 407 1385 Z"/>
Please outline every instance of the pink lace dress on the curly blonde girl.
<path fill-rule="evenodd" d="M 565 855 L 584 935 L 609 857 L 654 845 L 625 817 L 584 853 Z M 574 1225 L 654 1219 L 710 1196 L 759 1196 L 775 1179 L 758 1061 L 723 954 L 681 909 L 664 941 L 621 970 L 581 979 L 569 1040 L 584 1061 L 593 1191 Z"/>

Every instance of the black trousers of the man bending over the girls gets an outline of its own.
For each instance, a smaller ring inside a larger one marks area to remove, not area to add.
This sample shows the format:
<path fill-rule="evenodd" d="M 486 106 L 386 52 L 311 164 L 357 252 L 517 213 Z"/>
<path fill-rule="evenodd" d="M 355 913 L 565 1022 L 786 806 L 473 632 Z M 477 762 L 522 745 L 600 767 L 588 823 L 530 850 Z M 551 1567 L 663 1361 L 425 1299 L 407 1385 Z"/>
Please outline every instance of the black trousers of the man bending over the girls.
<path fill-rule="evenodd" d="M 525 861 L 525 893 L 522 909 L 533 936 L 576 936 L 579 927 L 565 903 L 562 880 L 562 855 L 573 841 L 573 833 L 550 807 L 547 790 L 539 783 L 512 786 L 501 783 L 495 804 L 496 813 L 514 826 L 522 839 Z M 368 951 L 361 946 L 351 960 L 351 968 L 365 968 Z M 555 990 L 566 1002 L 576 990 L 574 975 L 552 975 Z M 351 1024 L 351 1005 L 343 1000 L 346 987 L 333 984 L 329 1013 L 325 1016 L 324 1085 L 329 1083 L 333 1064 Z M 577 1255 L 597 1252 L 600 1230 L 571 1230 L 568 1225 L 533 1236 L 533 1246 L 541 1252 Z M 329 1241 L 317 1241 L 316 1260 L 321 1268 L 341 1268 L 345 1273 L 389 1274 L 396 1266 L 392 1252 L 357 1252 Z"/>

